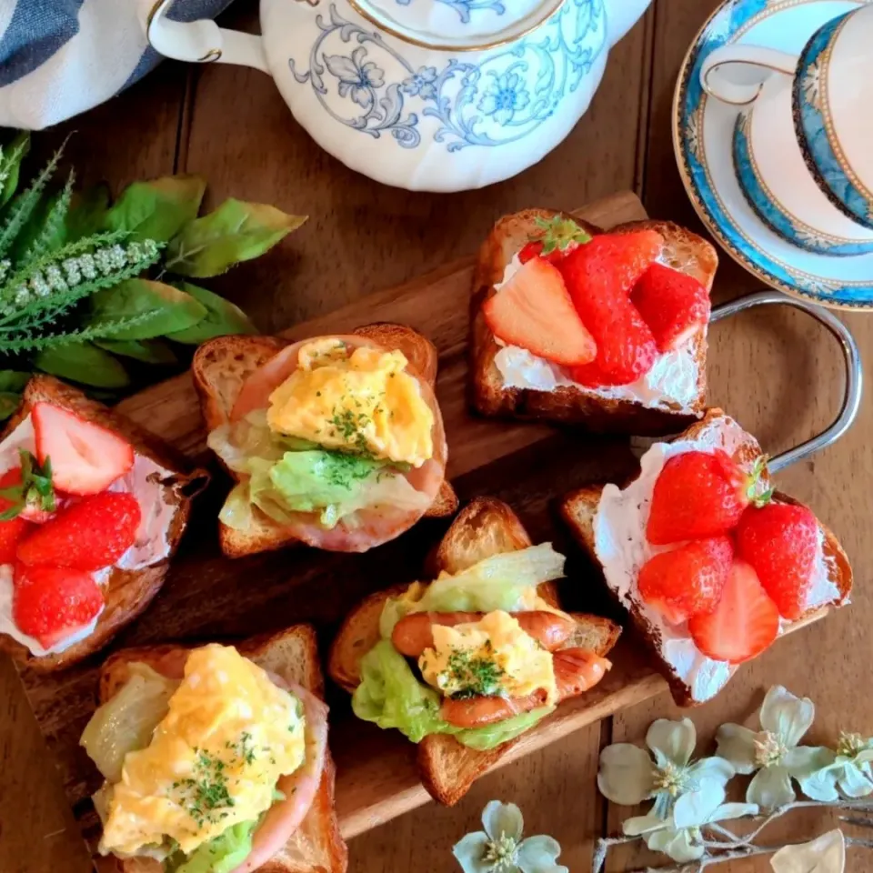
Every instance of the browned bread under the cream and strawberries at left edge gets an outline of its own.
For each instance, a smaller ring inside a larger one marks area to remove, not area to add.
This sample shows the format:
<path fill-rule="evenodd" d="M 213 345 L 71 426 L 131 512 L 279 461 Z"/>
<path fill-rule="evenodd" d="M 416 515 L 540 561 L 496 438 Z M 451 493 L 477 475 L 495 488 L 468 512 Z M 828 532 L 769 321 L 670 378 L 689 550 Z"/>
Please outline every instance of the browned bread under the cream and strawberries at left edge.
<path fill-rule="evenodd" d="M 129 419 L 89 399 L 78 389 L 65 385 L 53 376 L 34 376 L 27 383 L 22 404 L 10 418 L 0 438 L 11 434 L 30 415 L 31 407 L 39 401 L 61 406 L 75 412 L 77 416 L 115 431 L 125 437 L 139 455 L 149 457 L 166 467 L 174 475 L 166 480 L 165 498 L 167 503 L 176 507 L 167 532 L 169 555 L 156 564 L 139 570 L 114 569 L 104 588 L 105 608 L 97 619 L 94 632 L 85 639 L 55 655 L 36 657 L 12 637 L 0 634 L 0 650 L 8 652 L 16 660 L 38 672 L 50 672 L 69 667 L 104 647 L 122 627 L 138 617 L 151 603 L 164 583 L 170 558 L 185 531 L 191 499 L 206 487 L 209 477 L 204 470 L 192 469 L 183 456 L 153 434 L 141 430 Z"/>

